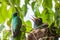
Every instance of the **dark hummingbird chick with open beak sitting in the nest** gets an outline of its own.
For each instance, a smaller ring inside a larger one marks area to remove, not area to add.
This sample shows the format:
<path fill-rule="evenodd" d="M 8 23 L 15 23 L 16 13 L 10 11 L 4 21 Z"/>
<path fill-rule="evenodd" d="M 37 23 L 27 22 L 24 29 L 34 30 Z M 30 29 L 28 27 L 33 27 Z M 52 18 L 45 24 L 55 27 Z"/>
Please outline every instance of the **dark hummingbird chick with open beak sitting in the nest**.
<path fill-rule="evenodd" d="M 33 18 L 32 20 L 34 22 L 34 29 L 48 27 L 48 24 L 42 22 L 42 18 Z"/>

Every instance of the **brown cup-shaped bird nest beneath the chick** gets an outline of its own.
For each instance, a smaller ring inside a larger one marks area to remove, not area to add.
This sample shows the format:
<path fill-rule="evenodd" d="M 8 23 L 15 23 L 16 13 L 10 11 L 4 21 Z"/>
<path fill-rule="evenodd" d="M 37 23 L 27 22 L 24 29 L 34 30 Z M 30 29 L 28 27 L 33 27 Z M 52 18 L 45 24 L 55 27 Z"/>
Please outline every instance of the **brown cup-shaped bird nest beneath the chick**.
<path fill-rule="evenodd" d="M 50 32 L 49 28 L 34 29 L 28 33 L 27 40 L 58 40 L 59 35 Z"/>

